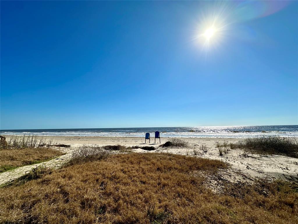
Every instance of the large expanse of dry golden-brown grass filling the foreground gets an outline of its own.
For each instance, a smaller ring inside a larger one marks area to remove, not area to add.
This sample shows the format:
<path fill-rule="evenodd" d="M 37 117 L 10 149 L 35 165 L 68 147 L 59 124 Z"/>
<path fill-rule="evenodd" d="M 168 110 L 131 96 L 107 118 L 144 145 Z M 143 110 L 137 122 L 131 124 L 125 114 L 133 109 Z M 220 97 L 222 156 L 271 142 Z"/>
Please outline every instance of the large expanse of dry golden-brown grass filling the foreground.
<path fill-rule="evenodd" d="M 224 194 L 205 187 L 200 174 L 227 167 L 182 155 L 113 154 L 1 188 L 0 223 L 298 222 L 297 185 L 232 185 Z"/>

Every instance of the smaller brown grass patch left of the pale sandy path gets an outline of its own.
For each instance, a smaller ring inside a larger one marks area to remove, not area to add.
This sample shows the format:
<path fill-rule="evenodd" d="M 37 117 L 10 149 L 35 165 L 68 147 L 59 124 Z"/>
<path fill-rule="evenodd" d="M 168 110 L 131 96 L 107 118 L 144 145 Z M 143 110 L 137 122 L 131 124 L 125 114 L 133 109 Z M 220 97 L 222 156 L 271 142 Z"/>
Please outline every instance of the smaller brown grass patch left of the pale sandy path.
<path fill-rule="evenodd" d="M 65 153 L 47 147 L 0 149 L 0 173 L 20 166 L 43 162 L 63 154 Z"/>

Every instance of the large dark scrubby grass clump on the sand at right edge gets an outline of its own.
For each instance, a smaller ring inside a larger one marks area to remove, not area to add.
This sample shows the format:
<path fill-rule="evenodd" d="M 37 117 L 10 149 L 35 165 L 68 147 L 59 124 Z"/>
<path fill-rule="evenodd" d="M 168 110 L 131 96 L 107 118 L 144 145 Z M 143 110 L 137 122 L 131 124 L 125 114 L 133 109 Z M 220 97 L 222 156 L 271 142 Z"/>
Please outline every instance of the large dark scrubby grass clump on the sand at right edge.
<path fill-rule="evenodd" d="M 231 144 L 231 148 L 240 148 L 252 154 L 282 155 L 298 158 L 298 142 L 296 138 L 283 138 L 280 136 L 247 138 Z"/>

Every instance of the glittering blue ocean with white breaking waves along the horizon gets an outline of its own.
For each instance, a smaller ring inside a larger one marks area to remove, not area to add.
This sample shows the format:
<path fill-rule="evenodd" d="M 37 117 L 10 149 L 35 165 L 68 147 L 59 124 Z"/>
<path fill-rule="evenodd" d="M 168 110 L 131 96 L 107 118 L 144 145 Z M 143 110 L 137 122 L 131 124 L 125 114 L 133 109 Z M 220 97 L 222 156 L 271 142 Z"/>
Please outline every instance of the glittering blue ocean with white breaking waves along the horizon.
<path fill-rule="evenodd" d="M 103 136 L 144 137 L 146 132 L 154 136 L 160 131 L 162 137 L 182 138 L 247 138 L 263 135 L 298 137 L 298 125 L 267 126 L 204 126 L 204 127 L 159 127 L 159 128 L 75 128 L 75 129 L 24 129 L 0 130 L 1 135 L 39 136 Z"/>

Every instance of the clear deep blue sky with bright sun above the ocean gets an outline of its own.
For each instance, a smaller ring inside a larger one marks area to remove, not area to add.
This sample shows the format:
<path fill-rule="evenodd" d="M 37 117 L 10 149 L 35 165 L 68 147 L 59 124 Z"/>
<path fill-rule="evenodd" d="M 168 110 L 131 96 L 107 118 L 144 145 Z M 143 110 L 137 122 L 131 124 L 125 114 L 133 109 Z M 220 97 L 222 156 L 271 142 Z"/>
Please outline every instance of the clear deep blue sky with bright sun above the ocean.
<path fill-rule="evenodd" d="M 1 130 L 298 124 L 297 1 L 0 4 Z"/>

